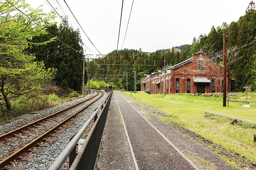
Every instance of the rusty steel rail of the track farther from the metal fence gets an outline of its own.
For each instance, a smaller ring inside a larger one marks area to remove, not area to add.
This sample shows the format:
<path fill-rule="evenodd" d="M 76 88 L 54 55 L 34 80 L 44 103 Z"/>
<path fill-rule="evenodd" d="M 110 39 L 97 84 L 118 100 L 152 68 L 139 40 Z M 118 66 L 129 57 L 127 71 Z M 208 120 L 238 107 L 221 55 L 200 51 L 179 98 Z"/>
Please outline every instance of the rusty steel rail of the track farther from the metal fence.
<path fill-rule="evenodd" d="M 29 124 L 27 124 L 27 125 L 24 125 L 24 126 L 22 126 L 22 127 L 20 127 L 20 128 L 13 129 L 12 131 L 9 131 L 9 132 L 7 132 L 7 133 L 4 133 L 4 134 L 0 135 L 0 141 L 3 141 L 4 139 L 7 139 L 8 137 L 12 137 L 12 136 L 15 135 L 15 134 L 19 134 L 20 132 L 23 132 L 24 130 L 26 130 L 26 129 L 28 129 L 28 128 L 30 128 L 30 127 L 32 127 L 32 126 L 38 124 L 38 123 L 41 123 L 41 122 L 45 121 L 45 120 L 48 119 L 48 118 L 51 118 L 51 117 L 53 117 L 53 116 L 56 116 L 56 115 L 60 114 L 61 112 L 64 112 L 64 111 L 66 111 L 66 110 L 68 110 L 68 109 L 70 109 L 70 108 L 72 108 L 72 107 L 75 107 L 75 106 L 77 106 L 77 105 L 79 105 L 79 104 L 81 104 L 81 103 L 83 103 L 83 102 L 85 102 L 85 101 L 87 101 L 87 100 L 90 100 L 90 99 L 92 99 L 92 98 L 94 98 L 94 97 L 96 97 L 96 96 L 98 96 L 98 95 L 99 95 L 99 92 L 98 92 L 98 94 L 96 94 L 95 96 L 92 96 L 92 97 L 89 98 L 89 99 L 86 99 L 86 100 L 84 100 L 84 101 L 81 101 L 81 102 L 79 102 L 79 103 L 76 103 L 75 105 L 72 105 L 72 106 L 70 106 L 70 107 L 67 107 L 67 108 L 65 108 L 65 109 L 62 109 L 62 110 L 60 110 L 60 111 L 58 111 L 58 112 L 55 112 L 55 113 L 53 113 L 53 114 L 51 114 L 51 115 L 45 116 L 45 117 L 43 117 L 43 118 L 41 118 L 41 119 L 38 119 L 38 120 L 36 120 L 36 121 L 34 121 L 34 122 L 31 122 L 31 123 L 29 123 Z"/>

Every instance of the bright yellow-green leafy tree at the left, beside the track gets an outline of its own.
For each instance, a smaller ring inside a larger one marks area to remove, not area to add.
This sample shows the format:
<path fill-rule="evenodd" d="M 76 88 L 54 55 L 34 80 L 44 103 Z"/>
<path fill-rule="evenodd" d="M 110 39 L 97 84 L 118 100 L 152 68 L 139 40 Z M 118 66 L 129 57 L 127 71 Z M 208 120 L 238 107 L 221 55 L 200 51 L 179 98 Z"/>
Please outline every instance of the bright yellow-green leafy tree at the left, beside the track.
<path fill-rule="evenodd" d="M 22 12 L 22 13 L 21 13 Z M 51 20 L 51 13 L 32 9 L 24 0 L 0 1 L 0 105 L 11 110 L 10 99 L 28 94 L 44 87 L 50 81 L 55 69 L 45 69 L 44 63 L 35 62 L 33 55 L 24 53 L 31 44 L 28 40 L 46 34 L 43 23 Z"/>

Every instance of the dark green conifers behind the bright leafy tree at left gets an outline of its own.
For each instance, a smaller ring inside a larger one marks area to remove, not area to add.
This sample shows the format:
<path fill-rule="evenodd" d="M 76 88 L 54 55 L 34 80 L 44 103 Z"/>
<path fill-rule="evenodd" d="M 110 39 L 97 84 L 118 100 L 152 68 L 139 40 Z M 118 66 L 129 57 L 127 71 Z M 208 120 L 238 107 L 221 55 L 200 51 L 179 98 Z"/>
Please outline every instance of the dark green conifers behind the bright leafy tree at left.
<path fill-rule="evenodd" d="M 33 46 L 33 48 L 28 49 L 28 52 L 35 54 L 37 61 L 44 61 L 46 68 L 54 67 L 58 69 L 55 78 L 57 85 L 64 89 L 81 90 L 83 48 L 80 44 L 79 30 L 73 30 L 64 21 L 59 27 L 56 23 L 47 26 L 47 31 L 64 41 L 65 44 L 55 39 L 42 46 Z M 34 37 L 31 42 L 47 41 L 49 38 L 49 34 L 39 35 Z M 87 74 L 85 74 L 85 82 L 87 82 Z"/>

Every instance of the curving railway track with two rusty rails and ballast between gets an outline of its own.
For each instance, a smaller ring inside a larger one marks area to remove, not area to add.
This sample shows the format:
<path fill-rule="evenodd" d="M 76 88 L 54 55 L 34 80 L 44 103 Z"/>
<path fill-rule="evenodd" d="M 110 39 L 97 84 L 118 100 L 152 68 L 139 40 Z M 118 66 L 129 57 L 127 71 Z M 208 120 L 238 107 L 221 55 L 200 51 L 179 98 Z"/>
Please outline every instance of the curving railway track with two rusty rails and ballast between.
<path fill-rule="evenodd" d="M 11 161 L 21 159 L 27 152 L 31 152 L 33 147 L 45 142 L 56 130 L 63 129 L 65 123 L 83 112 L 102 95 L 102 92 L 97 91 L 97 94 L 89 99 L 0 135 L 0 145 L 6 151 L 0 159 L 0 169 L 8 169 Z M 75 113 L 71 112 L 74 109 Z"/>

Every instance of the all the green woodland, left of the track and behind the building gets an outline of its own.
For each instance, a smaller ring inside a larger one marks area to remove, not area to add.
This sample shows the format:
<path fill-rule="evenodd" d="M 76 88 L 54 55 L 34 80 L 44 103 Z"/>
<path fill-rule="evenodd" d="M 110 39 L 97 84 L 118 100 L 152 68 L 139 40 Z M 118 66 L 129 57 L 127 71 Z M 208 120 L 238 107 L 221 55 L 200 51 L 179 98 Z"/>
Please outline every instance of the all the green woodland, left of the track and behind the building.
<path fill-rule="evenodd" d="M 79 97 L 84 56 L 79 29 L 74 30 L 65 19 L 61 23 L 52 22 L 56 17 L 53 12 L 33 9 L 25 0 L 0 1 L 0 13 L 0 121 L 52 107 L 64 98 L 68 101 Z M 92 80 L 92 86 L 96 88 L 111 85 L 115 89 L 133 91 L 135 86 L 140 90 L 140 79 L 144 74 L 161 70 L 164 58 L 165 65 L 174 65 L 200 49 L 210 57 L 217 57 L 221 65 L 224 29 L 227 65 L 236 80 L 236 92 L 243 91 L 245 85 L 255 91 L 256 11 L 253 1 L 238 21 L 229 25 L 223 22 L 216 28 L 212 26 L 208 35 L 195 37 L 191 45 L 159 49 L 153 53 L 138 47 L 100 56 L 102 60 L 111 58 L 130 63 L 150 60 L 146 65 L 105 65 L 86 60 L 84 81 Z"/>

